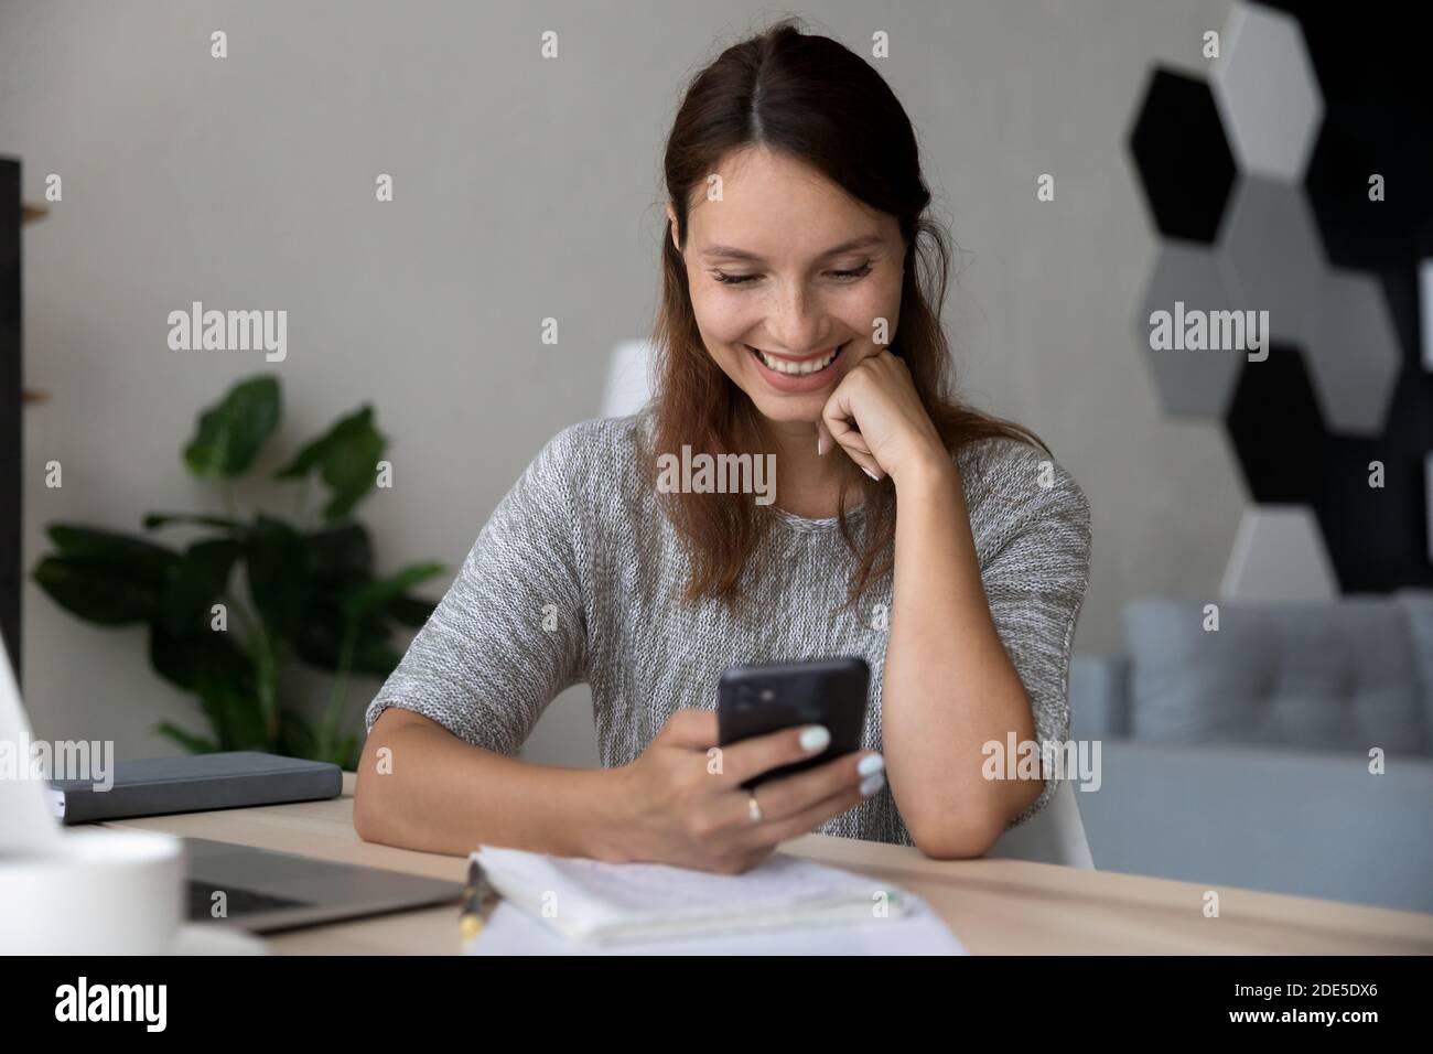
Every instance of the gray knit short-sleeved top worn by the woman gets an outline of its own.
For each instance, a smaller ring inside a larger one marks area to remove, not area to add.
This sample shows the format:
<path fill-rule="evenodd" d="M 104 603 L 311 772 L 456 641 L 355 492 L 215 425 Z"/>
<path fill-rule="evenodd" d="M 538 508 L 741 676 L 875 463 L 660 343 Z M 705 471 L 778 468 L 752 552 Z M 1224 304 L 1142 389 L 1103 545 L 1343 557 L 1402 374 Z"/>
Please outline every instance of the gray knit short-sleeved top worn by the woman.
<path fill-rule="evenodd" d="M 881 750 L 890 572 L 854 609 L 837 611 L 856 556 L 835 518 L 765 505 L 775 522 L 748 562 L 747 601 L 735 611 L 718 599 L 684 604 L 689 562 L 641 470 L 649 424 L 646 414 L 573 424 L 542 449 L 368 704 L 370 730 L 396 706 L 516 756 L 547 703 L 585 681 L 602 764 L 616 767 L 635 760 L 675 710 L 715 710 L 718 678 L 734 663 L 860 655 L 871 668 L 861 743 Z M 1089 578 L 1089 505 L 1065 469 L 1020 440 L 977 440 L 956 463 L 996 631 L 1030 697 L 1037 737 L 1063 741 L 1070 638 Z M 847 513 L 853 528 L 861 512 Z M 1053 793 L 1049 780 L 1012 826 Z M 820 830 L 913 845 L 888 784 Z"/>

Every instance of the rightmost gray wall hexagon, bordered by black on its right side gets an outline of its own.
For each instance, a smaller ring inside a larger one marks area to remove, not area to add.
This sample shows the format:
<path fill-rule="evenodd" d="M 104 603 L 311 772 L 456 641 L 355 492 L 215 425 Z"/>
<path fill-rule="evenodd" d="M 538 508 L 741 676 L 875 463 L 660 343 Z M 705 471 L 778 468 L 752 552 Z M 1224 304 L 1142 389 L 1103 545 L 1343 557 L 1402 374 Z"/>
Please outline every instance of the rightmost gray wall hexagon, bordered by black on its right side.
<path fill-rule="evenodd" d="M 1383 284 L 1361 271 L 1328 271 L 1304 347 L 1328 430 L 1380 435 L 1403 367 Z"/>

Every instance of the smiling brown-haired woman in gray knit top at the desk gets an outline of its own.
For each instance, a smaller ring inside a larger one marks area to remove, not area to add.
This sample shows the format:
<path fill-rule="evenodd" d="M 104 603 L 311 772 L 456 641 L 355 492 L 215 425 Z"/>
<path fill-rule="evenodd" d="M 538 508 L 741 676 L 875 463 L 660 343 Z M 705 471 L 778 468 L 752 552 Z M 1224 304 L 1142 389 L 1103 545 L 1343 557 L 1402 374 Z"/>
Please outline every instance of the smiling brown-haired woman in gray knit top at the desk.
<path fill-rule="evenodd" d="M 983 746 L 1068 737 L 1089 506 L 947 387 L 910 122 L 860 56 L 782 22 L 692 80 L 665 179 L 652 403 L 565 429 L 493 512 L 368 707 L 354 822 L 724 872 L 810 830 L 983 853 L 1055 793 L 986 777 Z M 771 459 L 775 502 L 663 485 L 694 450 Z M 727 667 L 834 655 L 873 674 L 860 750 L 754 794 L 825 730 L 711 764 Z M 603 769 L 517 760 L 577 681 Z"/>

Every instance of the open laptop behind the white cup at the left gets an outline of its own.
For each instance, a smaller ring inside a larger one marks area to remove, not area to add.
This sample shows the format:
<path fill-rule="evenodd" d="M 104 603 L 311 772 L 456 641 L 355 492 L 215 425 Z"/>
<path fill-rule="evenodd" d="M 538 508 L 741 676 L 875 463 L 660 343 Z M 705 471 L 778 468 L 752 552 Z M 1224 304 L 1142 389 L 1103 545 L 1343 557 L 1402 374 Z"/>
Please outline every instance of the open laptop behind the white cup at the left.
<path fill-rule="evenodd" d="M 14 754 L 33 741 L 20 706 L 4 641 L 0 640 L 0 744 Z M 27 761 L 29 754 L 26 754 Z M 0 856 L 57 850 L 66 833 L 43 780 L 0 779 Z M 457 882 L 315 860 L 297 853 L 183 837 L 191 922 L 236 926 L 255 934 L 340 919 L 457 903 Z M 225 918 L 215 919 L 222 892 Z"/>

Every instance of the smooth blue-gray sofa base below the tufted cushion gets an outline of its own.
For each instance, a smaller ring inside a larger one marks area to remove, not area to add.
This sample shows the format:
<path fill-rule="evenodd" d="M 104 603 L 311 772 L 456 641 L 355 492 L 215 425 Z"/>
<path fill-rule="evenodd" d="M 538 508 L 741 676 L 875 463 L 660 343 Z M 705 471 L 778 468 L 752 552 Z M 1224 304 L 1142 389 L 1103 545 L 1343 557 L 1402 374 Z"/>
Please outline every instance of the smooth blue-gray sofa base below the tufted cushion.
<path fill-rule="evenodd" d="M 1112 741 L 1101 779 L 1075 792 L 1101 870 L 1433 912 L 1433 759 Z"/>

